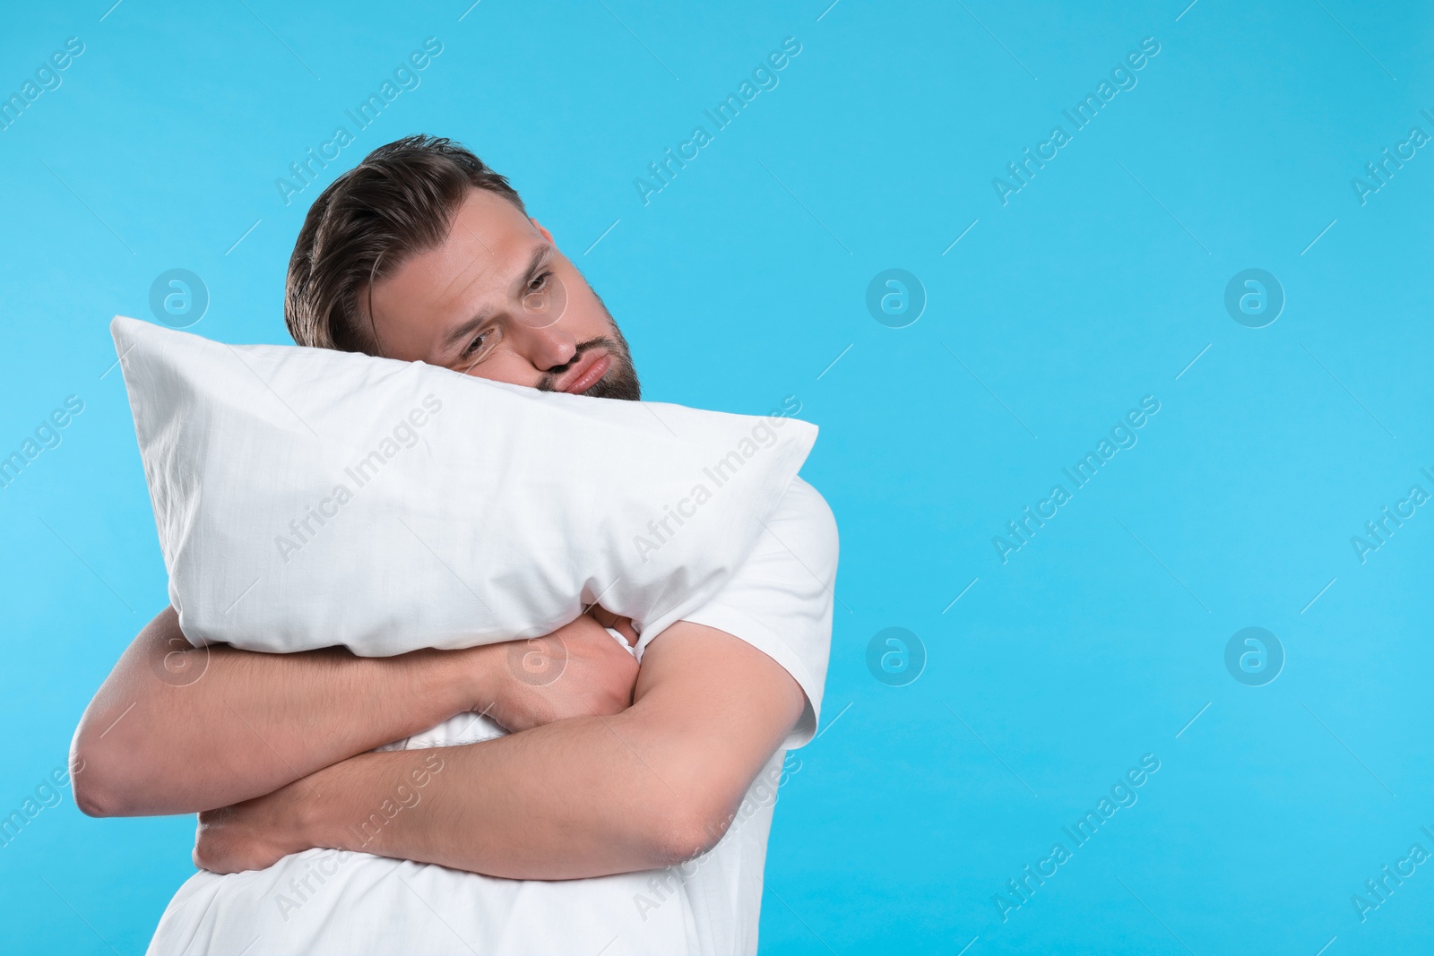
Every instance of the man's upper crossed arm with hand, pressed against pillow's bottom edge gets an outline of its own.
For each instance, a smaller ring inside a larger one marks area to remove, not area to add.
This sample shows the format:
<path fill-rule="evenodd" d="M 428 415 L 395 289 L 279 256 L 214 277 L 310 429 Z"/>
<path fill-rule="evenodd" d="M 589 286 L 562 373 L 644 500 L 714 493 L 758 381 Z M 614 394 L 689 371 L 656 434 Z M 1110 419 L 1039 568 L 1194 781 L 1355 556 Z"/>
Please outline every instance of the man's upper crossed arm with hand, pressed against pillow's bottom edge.
<path fill-rule="evenodd" d="M 602 625 L 584 615 L 523 654 L 543 654 L 552 638 L 565 666 L 536 687 L 515 678 L 508 644 L 393 658 L 192 648 L 166 608 L 80 720 L 70 763 L 85 773 L 73 777 L 75 800 L 90 816 L 195 813 L 271 793 L 465 711 L 523 730 L 628 705 L 637 664 Z"/>

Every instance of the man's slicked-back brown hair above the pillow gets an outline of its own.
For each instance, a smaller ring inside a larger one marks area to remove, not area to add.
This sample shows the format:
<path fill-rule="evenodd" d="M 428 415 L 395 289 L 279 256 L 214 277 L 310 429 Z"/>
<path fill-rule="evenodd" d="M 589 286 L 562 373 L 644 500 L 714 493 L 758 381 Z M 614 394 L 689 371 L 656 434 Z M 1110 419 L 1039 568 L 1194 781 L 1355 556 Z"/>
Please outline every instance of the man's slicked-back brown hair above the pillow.
<path fill-rule="evenodd" d="M 284 322 L 300 345 L 376 351 L 360 295 L 447 235 L 469 189 L 526 215 L 508 179 L 462 143 L 406 136 L 379 146 L 320 193 L 304 216 L 284 290 Z"/>

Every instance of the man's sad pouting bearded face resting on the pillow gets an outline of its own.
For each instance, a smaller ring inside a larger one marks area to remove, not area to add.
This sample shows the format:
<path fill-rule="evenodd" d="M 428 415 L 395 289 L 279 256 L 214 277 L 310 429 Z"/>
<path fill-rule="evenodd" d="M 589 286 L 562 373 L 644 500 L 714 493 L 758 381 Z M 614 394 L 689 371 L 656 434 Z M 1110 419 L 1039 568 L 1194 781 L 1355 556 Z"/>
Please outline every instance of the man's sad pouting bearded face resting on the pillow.
<path fill-rule="evenodd" d="M 638 398 L 627 341 L 552 235 L 473 189 L 437 247 L 373 284 L 377 353 L 480 378 L 599 398 Z"/>

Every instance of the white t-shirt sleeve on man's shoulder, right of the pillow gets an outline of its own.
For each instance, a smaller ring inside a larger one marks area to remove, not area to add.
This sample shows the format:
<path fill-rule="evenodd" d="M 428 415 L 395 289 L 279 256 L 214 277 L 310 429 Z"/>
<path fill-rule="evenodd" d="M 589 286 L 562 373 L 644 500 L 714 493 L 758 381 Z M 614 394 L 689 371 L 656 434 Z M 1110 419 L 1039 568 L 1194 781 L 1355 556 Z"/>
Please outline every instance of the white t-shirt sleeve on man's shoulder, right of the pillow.
<path fill-rule="evenodd" d="M 812 740 L 822 712 L 836 556 L 832 509 L 815 487 L 793 479 L 731 580 L 684 618 L 741 638 L 780 664 L 802 687 L 806 707 L 783 744 L 786 750 Z"/>

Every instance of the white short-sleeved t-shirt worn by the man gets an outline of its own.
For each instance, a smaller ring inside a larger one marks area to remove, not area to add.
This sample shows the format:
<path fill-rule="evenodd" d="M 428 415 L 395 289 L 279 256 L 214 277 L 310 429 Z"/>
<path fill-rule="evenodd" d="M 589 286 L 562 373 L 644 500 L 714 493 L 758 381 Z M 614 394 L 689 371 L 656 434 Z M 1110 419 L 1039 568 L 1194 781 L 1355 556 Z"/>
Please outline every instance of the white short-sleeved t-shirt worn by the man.
<path fill-rule="evenodd" d="M 687 616 L 771 656 L 807 699 L 721 841 L 701 857 L 667 870 L 546 881 L 305 850 L 267 870 L 192 876 L 161 917 L 151 956 L 756 953 L 771 811 L 779 787 L 800 767 L 786 750 L 812 740 L 822 708 L 836 556 L 832 510 L 796 479 L 734 578 Z M 652 636 L 642 635 L 638 655 Z M 384 750 L 472 744 L 503 732 L 463 714 Z"/>

